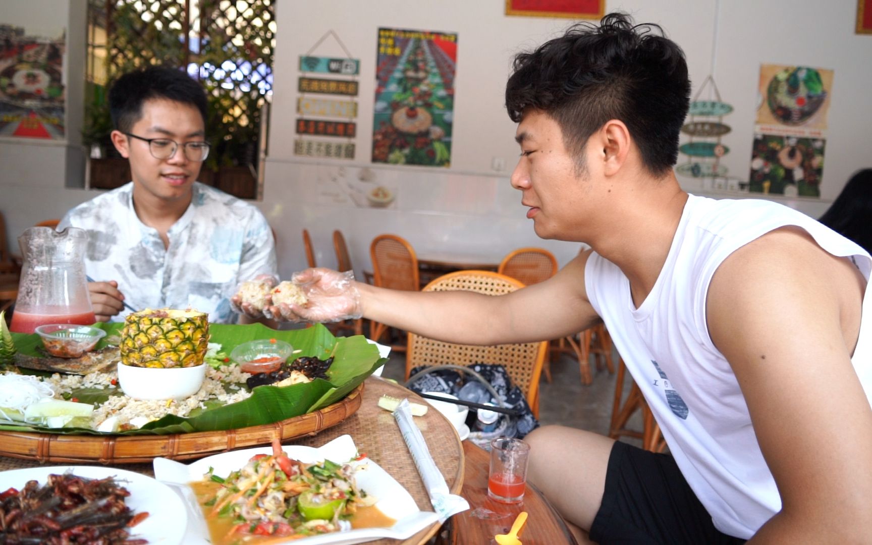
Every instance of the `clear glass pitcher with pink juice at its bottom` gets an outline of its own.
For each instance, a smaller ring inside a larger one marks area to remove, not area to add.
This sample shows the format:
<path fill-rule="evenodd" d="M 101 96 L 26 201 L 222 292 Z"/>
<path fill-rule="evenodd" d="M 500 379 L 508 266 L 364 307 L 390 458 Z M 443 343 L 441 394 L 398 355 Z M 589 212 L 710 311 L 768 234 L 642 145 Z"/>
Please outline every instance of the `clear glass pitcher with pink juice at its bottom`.
<path fill-rule="evenodd" d="M 10 330 L 32 333 L 43 324 L 95 322 L 85 276 L 85 229 L 31 227 L 18 237 L 24 257 Z"/>

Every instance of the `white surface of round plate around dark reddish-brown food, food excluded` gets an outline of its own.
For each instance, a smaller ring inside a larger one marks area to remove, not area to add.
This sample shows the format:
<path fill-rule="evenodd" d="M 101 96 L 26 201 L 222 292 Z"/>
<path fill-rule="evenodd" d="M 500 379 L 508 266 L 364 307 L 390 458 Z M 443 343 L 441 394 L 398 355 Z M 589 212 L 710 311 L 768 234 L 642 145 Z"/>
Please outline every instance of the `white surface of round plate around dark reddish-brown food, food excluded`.
<path fill-rule="evenodd" d="M 9 487 L 21 489 L 28 480 L 37 480 L 44 485 L 52 473 L 72 474 L 90 479 L 115 477 L 119 484 L 130 491 L 125 498 L 127 507 L 134 513 L 146 511 L 148 517 L 130 528 L 131 539 L 145 539 L 150 545 L 177 545 L 185 535 L 187 515 L 179 496 L 170 487 L 140 473 L 125 469 L 96 466 L 52 466 L 12 469 L 0 472 L 0 490 Z"/>

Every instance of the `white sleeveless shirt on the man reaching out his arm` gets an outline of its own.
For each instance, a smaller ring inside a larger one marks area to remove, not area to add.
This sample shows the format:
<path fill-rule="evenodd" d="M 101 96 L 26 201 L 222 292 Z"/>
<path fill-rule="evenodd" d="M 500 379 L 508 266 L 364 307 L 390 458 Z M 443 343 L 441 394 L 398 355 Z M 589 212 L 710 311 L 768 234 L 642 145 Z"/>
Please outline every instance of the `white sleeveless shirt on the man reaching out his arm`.
<path fill-rule="evenodd" d="M 585 269 L 590 303 L 651 405 L 678 467 L 714 526 L 742 539 L 778 513 L 781 500 L 732 368 L 709 337 L 705 300 L 728 255 L 787 225 L 805 229 L 832 255 L 853 256 L 869 281 L 869 254 L 807 215 L 772 201 L 695 195 L 689 195 L 664 267 L 638 309 L 630 281 L 615 264 L 593 253 Z M 862 316 L 852 362 L 872 401 L 872 296 L 864 297 Z"/>

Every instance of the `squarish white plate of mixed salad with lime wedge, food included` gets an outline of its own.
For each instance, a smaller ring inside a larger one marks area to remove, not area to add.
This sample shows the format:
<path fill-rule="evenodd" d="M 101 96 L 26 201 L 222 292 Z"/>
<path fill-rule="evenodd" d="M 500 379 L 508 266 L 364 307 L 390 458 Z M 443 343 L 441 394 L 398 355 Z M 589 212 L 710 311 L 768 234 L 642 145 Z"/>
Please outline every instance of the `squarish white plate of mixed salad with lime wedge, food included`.
<path fill-rule="evenodd" d="M 185 500 L 185 543 L 362 543 L 405 539 L 439 520 L 359 455 L 349 435 L 320 448 L 274 442 L 190 465 L 157 458 L 154 475 Z"/>

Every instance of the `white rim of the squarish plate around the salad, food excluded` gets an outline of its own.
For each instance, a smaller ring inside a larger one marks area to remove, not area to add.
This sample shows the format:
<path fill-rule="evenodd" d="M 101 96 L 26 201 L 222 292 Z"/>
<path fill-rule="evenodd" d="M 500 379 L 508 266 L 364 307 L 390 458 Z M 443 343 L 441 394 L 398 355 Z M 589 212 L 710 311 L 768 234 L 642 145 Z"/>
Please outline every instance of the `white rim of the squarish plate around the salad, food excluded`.
<path fill-rule="evenodd" d="M 357 455 L 358 448 L 354 446 L 354 440 L 350 435 L 343 435 L 333 439 L 320 448 L 311 446 L 287 445 L 283 446 L 285 453 L 294 460 L 304 463 L 312 463 L 321 460 L 332 460 L 337 463 L 345 463 Z M 203 473 L 208 472 L 209 467 L 214 468 L 214 473 L 220 477 L 226 477 L 228 473 L 244 466 L 255 454 L 271 454 L 272 447 L 261 446 L 247 448 L 229 453 L 215 454 L 190 465 L 180 464 L 166 458 L 154 459 L 154 476 L 167 483 L 179 494 L 185 503 L 188 524 L 185 535 L 185 545 L 207 545 L 211 543 L 203 518 L 201 507 L 197 504 L 194 492 L 188 483 L 201 480 Z M 371 542 L 383 537 L 393 539 L 407 539 L 417 534 L 422 529 L 439 521 L 439 515 L 431 511 L 421 511 L 415 505 L 412 495 L 394 480 L 394 478 L 372 460 L 364 459 L 352 462 L 352 465 L 365 466 L 357 473 L 358 487 L 373 494 L 378 498 L 376 507 L 396 520 L 391 528 L 361 528 L 348 532 L 336 532 L 333 534 L 314 535 L 293 541 L 301 545 L 318 545 L 332 543 L 344 545 L 350 543 Z M 289 540 L 290 542 L 290 540 Z M 271 542 L 281 543 L 281 541 Z"/>

